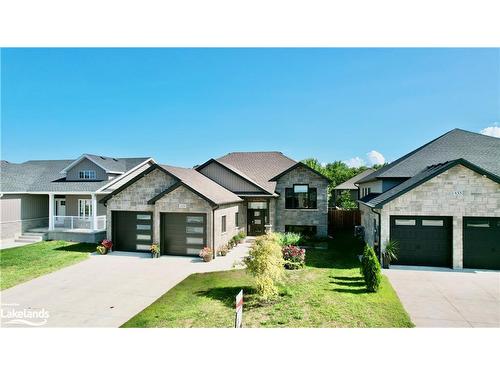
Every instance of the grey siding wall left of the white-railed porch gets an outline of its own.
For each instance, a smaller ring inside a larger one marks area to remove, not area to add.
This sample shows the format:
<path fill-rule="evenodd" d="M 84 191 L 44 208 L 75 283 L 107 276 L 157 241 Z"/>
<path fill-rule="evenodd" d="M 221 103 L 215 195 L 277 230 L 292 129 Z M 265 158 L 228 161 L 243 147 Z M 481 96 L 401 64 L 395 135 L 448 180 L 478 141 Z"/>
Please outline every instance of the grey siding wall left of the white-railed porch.
<path fill-rule="evenodd" d="M 1 238 L 14 238 L 31 228 L 48 226 L 49 197 L 4 194 L 0 199 Z"/>

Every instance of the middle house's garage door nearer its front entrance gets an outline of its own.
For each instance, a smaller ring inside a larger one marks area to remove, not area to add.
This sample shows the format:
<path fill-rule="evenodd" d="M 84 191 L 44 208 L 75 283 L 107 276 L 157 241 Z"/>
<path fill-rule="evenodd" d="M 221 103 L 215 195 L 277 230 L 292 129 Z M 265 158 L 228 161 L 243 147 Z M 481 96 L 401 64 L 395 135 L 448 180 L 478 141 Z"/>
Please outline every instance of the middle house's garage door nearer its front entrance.
<path fill-rule="evenodd" d="M 198 256 L 207 246 L 207 215 L 163 213 L 160 216 L 162 254 Z"/>

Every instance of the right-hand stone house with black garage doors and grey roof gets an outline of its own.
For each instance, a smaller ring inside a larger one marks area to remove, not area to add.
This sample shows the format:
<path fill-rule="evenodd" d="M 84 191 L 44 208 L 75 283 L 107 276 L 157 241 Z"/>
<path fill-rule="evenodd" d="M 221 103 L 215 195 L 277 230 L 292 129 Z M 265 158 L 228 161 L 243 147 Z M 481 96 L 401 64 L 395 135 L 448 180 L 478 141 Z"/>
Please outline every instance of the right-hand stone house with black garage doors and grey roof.
<path fill-rule="evenodd" d="M 500 269 L 499 138 L 455 129 L 358 185 L 365 240 L 397 240 L 394 263 Z"/>

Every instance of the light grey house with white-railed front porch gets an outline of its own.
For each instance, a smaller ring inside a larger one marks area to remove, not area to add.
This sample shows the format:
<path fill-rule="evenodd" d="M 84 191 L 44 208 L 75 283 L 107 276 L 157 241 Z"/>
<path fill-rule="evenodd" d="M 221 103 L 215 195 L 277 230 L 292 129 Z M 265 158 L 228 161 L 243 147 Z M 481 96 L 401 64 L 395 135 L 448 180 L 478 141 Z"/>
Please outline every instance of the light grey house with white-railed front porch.
<path fill-rule="evenodd" d="M 2 160 L 1 239 L 37 232 L 47 239 L 97 242 L 106 231 L 99 199 L 153 163 L 149 157 L 90 154 L 76 160 Z"/>

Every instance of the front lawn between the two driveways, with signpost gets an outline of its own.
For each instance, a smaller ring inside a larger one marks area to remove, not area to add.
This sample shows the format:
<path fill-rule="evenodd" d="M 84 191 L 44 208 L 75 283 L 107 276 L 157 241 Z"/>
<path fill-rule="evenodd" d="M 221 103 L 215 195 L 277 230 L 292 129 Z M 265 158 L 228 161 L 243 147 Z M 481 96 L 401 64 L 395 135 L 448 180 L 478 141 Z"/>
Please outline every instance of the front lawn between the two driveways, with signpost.
<path fill-rule="evenodd" d="M 245 327 L 413 326 L 385 276 L 378 293 L 366 291 L 357 259 L 360 243 L 340 234 L 328 247 L 307 250 L 306 268 L 286 271 L 286 283 L 274 303 L 257 301 L 244 270 L 195 274 L 124 327 L 231 327 L 240 289 Z"/>

